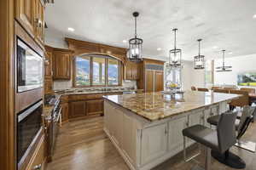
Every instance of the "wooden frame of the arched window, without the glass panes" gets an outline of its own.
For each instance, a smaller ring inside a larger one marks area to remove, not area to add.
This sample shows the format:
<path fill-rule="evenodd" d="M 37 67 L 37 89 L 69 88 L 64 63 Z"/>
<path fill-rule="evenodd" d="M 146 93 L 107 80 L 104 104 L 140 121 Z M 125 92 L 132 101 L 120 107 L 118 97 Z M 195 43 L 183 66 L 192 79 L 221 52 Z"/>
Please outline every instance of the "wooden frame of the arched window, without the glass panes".
<path fill-rule="evenodd" d="M 76 84 L 76 75 L 77 75 L 77 69 L 76 69 L 76 58 L 77 57 L 81 57 L 83 55 L 88 55 L 88 57 L 90 57 L 90 85 L 86 85 L 86 86 L 79 86 Z M 93 84 L 93 56 L 90 56 L 90 54 L 82 54 L 82 55 L 78 55 L 78 56 L 74 56 L 73 57 L 73 88 L 101 88 L 101 87 L 119 87 L 122 86 L 122 68 L 123 68 L 123 64 L 122 61 L 110 56 L 108 54 L 99 54 L 105 56 L 105 83 L 102 85 L 94 85 Z M 119 64 L 119 83 L 117 85 L 109 85 L 108 84 L 108 58 L 110 59 L 116 59 L 118 61 Z"/>

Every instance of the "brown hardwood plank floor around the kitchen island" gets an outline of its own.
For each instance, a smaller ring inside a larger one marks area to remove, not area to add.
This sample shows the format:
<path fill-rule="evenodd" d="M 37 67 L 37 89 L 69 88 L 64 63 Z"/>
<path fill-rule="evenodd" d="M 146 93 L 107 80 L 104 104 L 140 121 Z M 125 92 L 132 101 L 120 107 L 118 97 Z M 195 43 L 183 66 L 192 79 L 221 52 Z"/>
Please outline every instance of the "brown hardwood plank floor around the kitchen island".
<path fill-rule="evenodd" d="M 90 120 L 67 122 L 61 127 L 56 141 L 53 161 L 47 170 L 129 170 L 125 161 L 103 132 L 103 117 Z M 242 139 L 256 141 L 256 122 L 247 130 Z M 247 170 L 256 170 L 256 154 L 232 147 L 231 151 L 247 163 Z M 205 156 L 197 161 L 204 166 Z M 154 170 L 189 170 L 197 163 L 184 162 L 182 154 L 154 167 Z M 212 158 L 212 170 L 232 170 Z"/>

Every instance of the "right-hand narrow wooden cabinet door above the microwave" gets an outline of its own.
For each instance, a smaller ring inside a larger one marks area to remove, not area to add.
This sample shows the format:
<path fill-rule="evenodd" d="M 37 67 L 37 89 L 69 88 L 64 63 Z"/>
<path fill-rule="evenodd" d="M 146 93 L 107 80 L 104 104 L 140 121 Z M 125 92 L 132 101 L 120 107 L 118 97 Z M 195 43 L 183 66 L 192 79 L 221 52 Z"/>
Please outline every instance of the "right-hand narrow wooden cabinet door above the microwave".
<path fill-rule="evenodd" d="M 41 0 L 35 0 L 35 11 L 36 38 L 39 43 L 44 44 L 44 3 Z"/>

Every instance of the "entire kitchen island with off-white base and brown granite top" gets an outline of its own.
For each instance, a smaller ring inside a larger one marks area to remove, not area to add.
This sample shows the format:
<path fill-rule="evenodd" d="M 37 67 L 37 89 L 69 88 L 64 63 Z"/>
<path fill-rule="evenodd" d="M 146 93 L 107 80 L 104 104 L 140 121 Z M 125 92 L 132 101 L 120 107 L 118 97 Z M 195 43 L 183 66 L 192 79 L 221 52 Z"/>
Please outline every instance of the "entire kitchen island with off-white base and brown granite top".
<path fill-rule="evenodd" d="M 175 99 L 161 93 L 104 96 L 104 131 L 131 169 L 151 169 L 183 150 L 183 128 L 209 127 L 207 118 L 227 111 L 238 97 L 190 91 Z"/>

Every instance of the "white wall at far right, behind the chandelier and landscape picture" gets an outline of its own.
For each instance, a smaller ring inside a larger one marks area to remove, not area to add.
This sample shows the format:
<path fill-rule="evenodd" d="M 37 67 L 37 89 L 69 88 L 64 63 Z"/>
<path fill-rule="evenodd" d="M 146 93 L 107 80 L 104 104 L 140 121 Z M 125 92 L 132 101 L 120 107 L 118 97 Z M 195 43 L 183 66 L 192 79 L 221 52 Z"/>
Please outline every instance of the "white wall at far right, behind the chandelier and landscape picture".
<path fill-rule="evenodd" d="M 232 66 L 230 72 L 217 72 L 215 67 L 222 65 L 222 59 L 214 60 L 214 84 L 237 85 L 237 74 L 240 72 L 256 72 L 256 54 L 225 59 L 225 65 Z M 241 87 L 240 87 L 241 88 Z M 253 88 L 253 87 L 250 87 Z M 255 87 L 256 88 L 256 87 Z"/>

